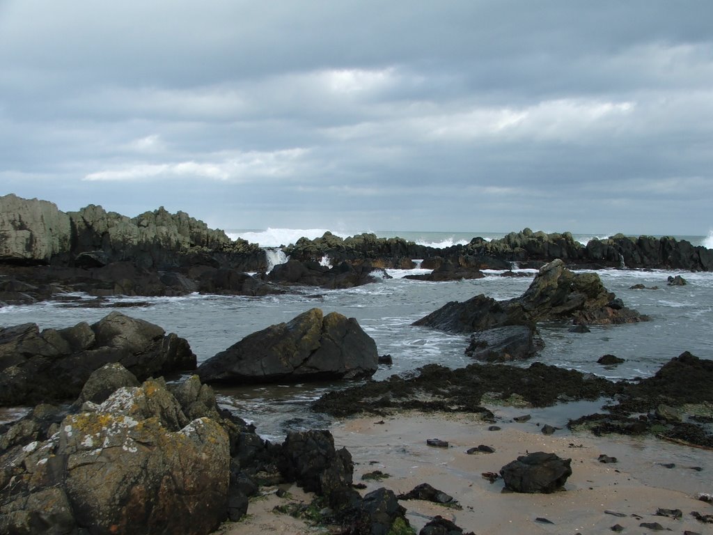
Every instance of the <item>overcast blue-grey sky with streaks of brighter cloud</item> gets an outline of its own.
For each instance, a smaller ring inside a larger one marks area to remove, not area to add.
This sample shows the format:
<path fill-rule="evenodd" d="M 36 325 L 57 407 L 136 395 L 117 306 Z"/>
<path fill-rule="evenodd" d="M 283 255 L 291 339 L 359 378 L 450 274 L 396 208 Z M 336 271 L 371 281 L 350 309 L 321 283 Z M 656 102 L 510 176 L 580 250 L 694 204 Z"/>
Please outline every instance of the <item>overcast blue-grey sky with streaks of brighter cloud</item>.
<path fill-rule="evenodd" d="M 713 2 L 0 0 L 0 195 L 707 235 Z"/>

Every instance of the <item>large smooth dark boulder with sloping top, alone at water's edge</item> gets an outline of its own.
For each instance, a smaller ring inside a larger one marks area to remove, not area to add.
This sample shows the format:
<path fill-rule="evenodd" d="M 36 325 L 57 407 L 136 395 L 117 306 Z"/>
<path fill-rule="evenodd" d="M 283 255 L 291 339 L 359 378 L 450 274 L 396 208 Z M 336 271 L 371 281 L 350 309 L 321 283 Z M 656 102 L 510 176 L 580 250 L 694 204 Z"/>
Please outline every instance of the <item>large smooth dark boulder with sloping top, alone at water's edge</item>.
<path fill-rule="evenodd" d="M 203 382 L 277 382 L 369 377 L 376 343 L 354 318 L 313 308 L 288 323 L 254 332 L 203 362 Z"/>

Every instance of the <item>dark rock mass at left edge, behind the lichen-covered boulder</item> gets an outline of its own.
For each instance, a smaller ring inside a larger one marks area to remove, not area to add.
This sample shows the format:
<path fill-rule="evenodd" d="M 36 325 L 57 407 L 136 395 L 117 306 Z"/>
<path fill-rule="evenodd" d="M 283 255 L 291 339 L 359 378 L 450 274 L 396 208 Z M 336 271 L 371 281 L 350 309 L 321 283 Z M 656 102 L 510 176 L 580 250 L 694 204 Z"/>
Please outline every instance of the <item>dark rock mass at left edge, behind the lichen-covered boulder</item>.
<path fill-rule="evenodd" d="M 0 329 L 0 404 L 75 399 L 94 370 L 118 362 L 139 379 L 195 370 L 188 342 L 158 325 L 112 312 L 93 325 Z"/>

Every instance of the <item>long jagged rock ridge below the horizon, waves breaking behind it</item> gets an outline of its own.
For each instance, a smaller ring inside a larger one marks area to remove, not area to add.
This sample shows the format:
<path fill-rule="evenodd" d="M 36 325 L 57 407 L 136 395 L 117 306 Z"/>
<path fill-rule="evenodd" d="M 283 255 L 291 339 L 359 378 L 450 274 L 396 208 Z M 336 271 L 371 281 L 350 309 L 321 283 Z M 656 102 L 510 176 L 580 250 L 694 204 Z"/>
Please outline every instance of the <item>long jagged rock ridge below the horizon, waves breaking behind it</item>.
<path fill-rule="evenodd" d="M 570 233 L 527 228 L 449 248 L 327 232 L 281 249 L 289 262 L 267 273 L 267 252 L 260 245 L 231 240 L 183 212 L 158 208 L 128 218 L 89 205 L 64 213 L 46 200 L 9 194 L 0 196 L 0 305 L 66 299 L 69 292 L 85 292 L 102 306 L 113 295 L 262 296 L 304 286 L 349 288 L 374 282 L 374 270 L 411 268 L 414 260 L 434 270 L 421 277 L 426 280 L 477 278 L 483 269 L 515 264 L 538 269 L 555 259 L 570 269 L 713 270 L 713 251 L 686 240 L 617 234 L 582 245 Z M 329 266 L 322 265 L 325 258 Z"/>

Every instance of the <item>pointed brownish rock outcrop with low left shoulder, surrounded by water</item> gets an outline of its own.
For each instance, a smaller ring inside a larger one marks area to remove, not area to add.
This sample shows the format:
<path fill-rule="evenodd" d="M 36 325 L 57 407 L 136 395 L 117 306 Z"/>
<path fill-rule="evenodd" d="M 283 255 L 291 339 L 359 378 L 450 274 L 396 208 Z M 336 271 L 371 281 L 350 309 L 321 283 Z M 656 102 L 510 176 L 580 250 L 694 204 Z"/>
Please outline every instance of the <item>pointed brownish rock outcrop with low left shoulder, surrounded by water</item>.
<path fill-rule="evenodd" d="M 608 325 L 647 319 L 607 291 L 596 273 L 575 274 L 562 260 L 554 260 L 540 268 L 520 297 L 496 301 L 476 295 L 465 302 L 449 302 L 414 325 L 448 332 L 474 332 L 549 320 Z"/>

